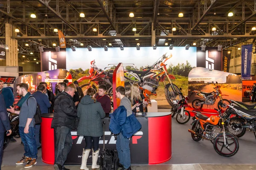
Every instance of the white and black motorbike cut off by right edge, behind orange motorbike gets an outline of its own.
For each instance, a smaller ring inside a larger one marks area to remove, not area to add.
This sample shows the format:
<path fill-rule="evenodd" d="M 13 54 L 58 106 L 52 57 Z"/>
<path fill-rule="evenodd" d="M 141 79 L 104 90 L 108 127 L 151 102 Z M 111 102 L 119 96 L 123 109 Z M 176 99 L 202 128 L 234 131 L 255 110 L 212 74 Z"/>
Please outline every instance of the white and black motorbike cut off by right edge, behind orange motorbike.
<path fill-rule="evenodd" d="M 229 107 L 230 119 L 227 130 L 240 138 L 244 136 L 248 128 L 253 131 L 256 138 L 256 109 L 245 109 L 233 103 Z"/>

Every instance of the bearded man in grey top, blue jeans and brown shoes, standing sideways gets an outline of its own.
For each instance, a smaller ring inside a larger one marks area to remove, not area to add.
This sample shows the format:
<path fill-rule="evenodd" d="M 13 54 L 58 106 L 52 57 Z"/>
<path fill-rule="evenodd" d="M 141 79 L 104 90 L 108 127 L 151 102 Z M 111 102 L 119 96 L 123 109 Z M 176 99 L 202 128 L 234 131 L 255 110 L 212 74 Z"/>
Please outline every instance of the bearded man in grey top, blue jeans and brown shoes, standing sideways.
<path fill-rule="evenodd" d="M 20 101 L 17 106 L 20 107 L 20 111 L 15 111 L 14 108 L 10 106 L 11 109 L 7 111 L 19 114 L 19 132 L 21 141 L 24 144 L 24 156 L 16 164 L 24 164 L 25 168 L 32 167 L 36 164 L 36 159 L 38 158 L 37 145 L 35 141 L 35 112 L 37 107 L 37 102 L 35 97 L 33 97 L 29 92 L 29 85 L 26 83 L 20 83 L 17 85 L 17 93 L 21 95 Z"/>

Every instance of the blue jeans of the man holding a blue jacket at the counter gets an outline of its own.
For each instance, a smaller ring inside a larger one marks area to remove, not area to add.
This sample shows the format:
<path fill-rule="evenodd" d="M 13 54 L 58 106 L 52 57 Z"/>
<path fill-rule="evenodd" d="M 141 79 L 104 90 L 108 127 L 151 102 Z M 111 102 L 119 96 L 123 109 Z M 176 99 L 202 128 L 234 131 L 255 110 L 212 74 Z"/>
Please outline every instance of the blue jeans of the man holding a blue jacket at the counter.
<path fill-rule="evenodd" d="M 130 140 L 124 138 L 122 133 L 117 135 L 116 150 L 118 153 L 119 163 L 123 164 L 125 169 L 131 166 Z"/>

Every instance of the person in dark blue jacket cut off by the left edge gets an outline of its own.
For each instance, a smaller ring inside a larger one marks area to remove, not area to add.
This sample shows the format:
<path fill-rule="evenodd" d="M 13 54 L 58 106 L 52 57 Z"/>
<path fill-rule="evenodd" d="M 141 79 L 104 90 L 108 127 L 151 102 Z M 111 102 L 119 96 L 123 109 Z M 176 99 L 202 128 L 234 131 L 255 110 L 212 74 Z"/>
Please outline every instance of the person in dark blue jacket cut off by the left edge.
<path fill-rule="evenodd" d="M 3 157 L 4 135 L 6 131 L 8 131 L 7 136 L 12 134 L 11 125 L 7 115 L 3 94 L 0 94 L 0 169 L 1 169 L 2 157 Z"/>

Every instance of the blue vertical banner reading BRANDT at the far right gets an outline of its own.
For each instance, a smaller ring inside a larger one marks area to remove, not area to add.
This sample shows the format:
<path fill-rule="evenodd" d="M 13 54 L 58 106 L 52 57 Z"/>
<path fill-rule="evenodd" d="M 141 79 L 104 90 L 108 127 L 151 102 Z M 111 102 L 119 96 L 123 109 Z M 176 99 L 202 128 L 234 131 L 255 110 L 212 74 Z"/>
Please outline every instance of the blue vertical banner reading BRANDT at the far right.
<path fill-rule="evenodd" d="M 252 48 L 253 45 L 242 45 L 241 52 L 241 75 L 242 79 L 250 79 L 250 68 L 251 68 L 251 60 L 252 60 Z"/>

